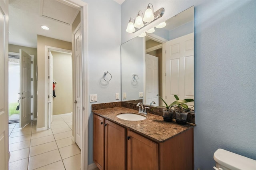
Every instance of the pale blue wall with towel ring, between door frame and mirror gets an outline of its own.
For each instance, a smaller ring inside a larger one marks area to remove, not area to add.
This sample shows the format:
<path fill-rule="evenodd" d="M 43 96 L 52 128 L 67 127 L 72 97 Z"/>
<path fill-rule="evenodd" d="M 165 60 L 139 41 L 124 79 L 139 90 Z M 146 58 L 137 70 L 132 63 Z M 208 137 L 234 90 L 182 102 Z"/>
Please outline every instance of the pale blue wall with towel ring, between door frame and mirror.
<path fill-rule="evenodd" d="M 97 94 L 98 102 L 89 103 L 88 164 L 93 163 L 93 114 L 91 105 L 116 100 L 121 92 L 121 6 L 113 0 L 84 0 L 88 4 L 88 102 L 90 94 Z M 109 71 L 112 79 L 104 81 Z"/>

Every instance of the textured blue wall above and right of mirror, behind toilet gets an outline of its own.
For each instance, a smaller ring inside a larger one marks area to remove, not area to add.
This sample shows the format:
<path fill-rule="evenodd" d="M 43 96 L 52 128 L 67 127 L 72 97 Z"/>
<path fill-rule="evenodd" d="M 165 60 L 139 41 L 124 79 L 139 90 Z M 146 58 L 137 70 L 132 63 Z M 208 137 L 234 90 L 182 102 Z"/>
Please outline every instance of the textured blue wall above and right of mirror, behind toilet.
<path fill-rule="evenodd" d="M 195 170 L 212 169 L 218 148 L 256 160 L 256 1 L 126 0 L 122 43 L 150 27 L 125 32 L 130 17 L 149 2 L 165 8 L 158 22 L 194 5 Z"/>

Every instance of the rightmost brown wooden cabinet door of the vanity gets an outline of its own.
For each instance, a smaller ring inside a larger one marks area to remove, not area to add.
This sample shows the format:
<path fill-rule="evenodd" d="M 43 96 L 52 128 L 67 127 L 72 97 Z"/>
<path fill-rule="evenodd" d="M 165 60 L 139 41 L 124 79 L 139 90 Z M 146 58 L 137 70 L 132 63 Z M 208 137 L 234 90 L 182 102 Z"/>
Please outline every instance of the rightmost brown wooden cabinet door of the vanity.
<path fill-rule="evenodd" d="M 158 170 L 158 144 L 128 130 L 128 170 Z"/>

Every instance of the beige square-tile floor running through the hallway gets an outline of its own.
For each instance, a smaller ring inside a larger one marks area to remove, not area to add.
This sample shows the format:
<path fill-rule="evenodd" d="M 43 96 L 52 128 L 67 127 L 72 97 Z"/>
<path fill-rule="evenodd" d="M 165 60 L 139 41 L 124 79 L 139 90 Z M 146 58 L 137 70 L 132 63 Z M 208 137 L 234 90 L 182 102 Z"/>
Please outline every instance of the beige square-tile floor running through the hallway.
<path fill-rule="evenodd" d="M 52 128 L 36 132 L 9 124 L 10 170 L 80 170 L 80 149 L 72 141 L 72 115 L 53 117 Z"/>

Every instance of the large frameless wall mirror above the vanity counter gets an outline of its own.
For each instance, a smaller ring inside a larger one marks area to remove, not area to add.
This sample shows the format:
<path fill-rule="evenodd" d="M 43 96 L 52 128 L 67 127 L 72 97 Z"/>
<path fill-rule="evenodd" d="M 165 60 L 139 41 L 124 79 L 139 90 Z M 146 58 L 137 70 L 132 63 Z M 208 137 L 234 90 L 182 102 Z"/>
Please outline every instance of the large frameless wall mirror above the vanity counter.
<path fill-rule="evenodd" d="M 146 37 L 121 45 L 122 101 L 163 105 L 194 99 L 194 6 Z M 188 103 L 194 105 L 194 103 Z"/>

